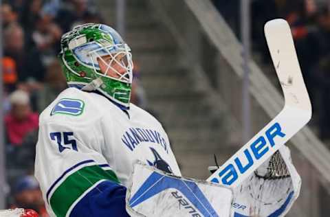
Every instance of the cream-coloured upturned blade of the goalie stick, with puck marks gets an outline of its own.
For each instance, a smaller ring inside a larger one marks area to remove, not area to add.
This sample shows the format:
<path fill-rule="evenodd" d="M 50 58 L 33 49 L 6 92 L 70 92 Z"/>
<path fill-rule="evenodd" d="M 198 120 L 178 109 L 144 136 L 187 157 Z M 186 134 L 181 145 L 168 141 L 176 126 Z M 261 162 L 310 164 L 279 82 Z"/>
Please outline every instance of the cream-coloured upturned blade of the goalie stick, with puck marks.
<path fill-rule="evenodd" d="M 311 102 L 298 62 L 289 24 L 284 19 L 274 19 L 265 24 L 265 37 L 270 55 L 281 83 L 285 104 L 309 112 Z"/>

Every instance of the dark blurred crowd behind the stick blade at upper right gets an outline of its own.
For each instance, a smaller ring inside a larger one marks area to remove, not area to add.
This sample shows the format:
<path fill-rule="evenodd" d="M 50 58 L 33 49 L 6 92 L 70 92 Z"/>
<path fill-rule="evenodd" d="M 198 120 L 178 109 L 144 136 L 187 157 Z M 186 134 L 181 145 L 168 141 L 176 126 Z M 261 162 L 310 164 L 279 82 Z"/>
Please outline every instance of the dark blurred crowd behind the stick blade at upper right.
<path fill-rule="evenodd" d="M 296 52 L 313 104 L 320 138 L 330 144 L 330 3 L 327 0 L 251 0 L 251 35 L 254 55 L 272 66 L 263 26 L 276 18 L 286 19 L 292 29 Z M 213 0 L 240 38 L 240 0 Z"/>

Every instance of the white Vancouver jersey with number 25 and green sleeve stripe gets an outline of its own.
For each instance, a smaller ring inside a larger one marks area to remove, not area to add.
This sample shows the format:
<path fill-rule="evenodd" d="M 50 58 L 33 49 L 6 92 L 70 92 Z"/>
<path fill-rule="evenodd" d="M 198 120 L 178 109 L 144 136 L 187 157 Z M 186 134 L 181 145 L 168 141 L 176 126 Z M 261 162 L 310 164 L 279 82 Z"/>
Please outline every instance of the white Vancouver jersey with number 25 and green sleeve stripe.
<path fill-rule="evenodd" d="M 69 216 L 104 181 L 126 186 L 137 159 L 181 176 L 164 128 L 134 104 L 68 88 L 41 113 L 35 176 L 52 216 Z"/>

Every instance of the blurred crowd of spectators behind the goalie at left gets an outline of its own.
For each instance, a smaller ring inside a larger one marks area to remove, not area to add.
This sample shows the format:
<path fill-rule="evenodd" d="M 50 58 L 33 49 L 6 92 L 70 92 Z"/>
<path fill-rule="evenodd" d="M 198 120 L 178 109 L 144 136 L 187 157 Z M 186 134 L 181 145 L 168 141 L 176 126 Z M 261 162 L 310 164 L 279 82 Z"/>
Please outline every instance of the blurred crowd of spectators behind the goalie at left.
<path fill-rule="evenodd" d="M 8 207 L 47 216 L 34 179 L 39 114 L 67 84 L 56 55 L 63 33 L 83 23 L 104 23 L 93 0 L 2 1 L 3 85 Z M 135 64 L 132 101 L 145 106 Z"/>

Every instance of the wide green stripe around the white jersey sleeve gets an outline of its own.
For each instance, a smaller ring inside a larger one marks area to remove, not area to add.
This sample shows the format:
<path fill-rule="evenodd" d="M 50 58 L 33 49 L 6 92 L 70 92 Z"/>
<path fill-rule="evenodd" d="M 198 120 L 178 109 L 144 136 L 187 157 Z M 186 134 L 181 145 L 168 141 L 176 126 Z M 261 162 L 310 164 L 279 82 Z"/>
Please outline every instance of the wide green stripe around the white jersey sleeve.
<path fill-rule="evenodd" d="M 69 175 L 59 185 L 52 197 L 50 205 L 56 216 L 65 216 L 69 207 L 80 195 L 84 194 L 96 182 L 107 179 L 119 183 L 117 176 L 112 170 L 102 170 L 98 165 L 91 165 L 77 170 Z"/>

